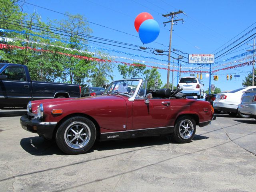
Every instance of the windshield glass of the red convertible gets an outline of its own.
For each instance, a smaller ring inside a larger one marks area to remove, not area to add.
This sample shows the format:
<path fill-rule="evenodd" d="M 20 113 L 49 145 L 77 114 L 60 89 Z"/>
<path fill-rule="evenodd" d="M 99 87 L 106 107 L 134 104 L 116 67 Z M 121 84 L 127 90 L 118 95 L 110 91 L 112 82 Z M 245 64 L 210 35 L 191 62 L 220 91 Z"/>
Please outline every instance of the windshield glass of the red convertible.
<path fill-rule="evenodd" d="M 133 96 L 139 84 L 139 80 L 120 80 L 112 82 L 104 94 L 126 94 Z"/>

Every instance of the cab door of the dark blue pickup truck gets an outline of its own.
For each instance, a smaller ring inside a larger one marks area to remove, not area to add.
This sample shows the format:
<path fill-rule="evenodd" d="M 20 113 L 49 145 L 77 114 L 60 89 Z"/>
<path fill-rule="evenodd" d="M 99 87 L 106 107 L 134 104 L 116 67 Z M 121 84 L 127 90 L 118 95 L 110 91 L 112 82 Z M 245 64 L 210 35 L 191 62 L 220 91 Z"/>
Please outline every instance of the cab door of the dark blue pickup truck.
<path fill-rule="evenodd" d="M 27 81 L 23 66 L 8 66 L 2 75 L 7 79 L 0 80 L 0 99 L 4 107 L 26 107 L 31 100 L 31 82 Z"/>

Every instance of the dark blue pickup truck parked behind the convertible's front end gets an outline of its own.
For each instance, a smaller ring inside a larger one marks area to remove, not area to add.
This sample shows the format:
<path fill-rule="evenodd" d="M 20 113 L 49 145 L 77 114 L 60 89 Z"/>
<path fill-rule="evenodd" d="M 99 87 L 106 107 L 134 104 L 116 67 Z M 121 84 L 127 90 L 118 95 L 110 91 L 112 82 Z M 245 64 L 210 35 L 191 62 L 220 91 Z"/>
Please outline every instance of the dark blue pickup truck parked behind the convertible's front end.
<path fill-rule="evenodd" d="M 78 98 L 76 84 L 32 81 L 25 65 L 0 63 L 0 109 L 26 108 L 29 101 Z"/>

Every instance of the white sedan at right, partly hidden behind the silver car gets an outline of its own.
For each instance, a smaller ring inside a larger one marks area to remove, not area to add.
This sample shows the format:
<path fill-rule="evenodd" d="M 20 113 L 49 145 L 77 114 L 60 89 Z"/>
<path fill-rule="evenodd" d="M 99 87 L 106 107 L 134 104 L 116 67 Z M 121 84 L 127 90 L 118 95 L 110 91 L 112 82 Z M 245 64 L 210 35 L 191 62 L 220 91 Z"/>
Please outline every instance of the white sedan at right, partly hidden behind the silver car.
<path fill-rule="evenodd" d="M 256 90 L 256 86 L 242 87 L 227 93 L 218 93 L 213 102 L 213 107 L 216 110 L 228 113 L 230 116 L 238 115 L 240 118 L 250 118 L 250 115 L 238 111 L 238 104 L 241 102 L 243 92 L 252 90 Z"/>

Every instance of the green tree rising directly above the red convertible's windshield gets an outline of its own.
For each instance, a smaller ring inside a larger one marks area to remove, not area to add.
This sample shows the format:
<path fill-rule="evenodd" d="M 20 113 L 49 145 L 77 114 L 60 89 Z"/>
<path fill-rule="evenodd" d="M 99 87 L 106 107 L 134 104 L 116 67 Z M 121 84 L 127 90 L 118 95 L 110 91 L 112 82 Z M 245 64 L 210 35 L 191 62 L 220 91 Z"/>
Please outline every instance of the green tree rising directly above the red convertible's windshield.
<path fill-rule="evenodd" d="M 143 74 L 143 71 L 146 69 L 146 66 L 139 64 L 139 63 L 133 63 L 136 65 L 121 65 L 119 64 L 117 66 L 119 73 L 123 76 L 124 79 L 130 79 L 130 78 L 140 78 L 140 75 Z"/>

